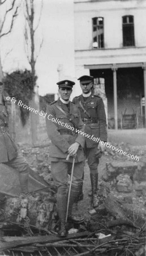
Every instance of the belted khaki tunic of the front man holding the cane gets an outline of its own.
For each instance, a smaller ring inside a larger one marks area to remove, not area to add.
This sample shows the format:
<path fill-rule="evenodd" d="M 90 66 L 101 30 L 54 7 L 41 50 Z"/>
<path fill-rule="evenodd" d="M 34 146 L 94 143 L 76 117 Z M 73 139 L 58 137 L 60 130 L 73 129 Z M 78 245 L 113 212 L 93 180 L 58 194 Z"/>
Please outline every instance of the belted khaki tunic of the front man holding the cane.
<path fill-rule="evenodd" d="M 69 104 L 70 111 L 68 110 L 67 106 L 60 100 L 54 102 L 54 104 L 49 105 L 46 110 L 46 130 L 48 137 L 51 140 L 51 161 L 59 160 L 65 162 L 68 155 L 68 147 L 70 147 L 70 145 L 74 142 L 78 142 L 80 144 L 75 159 L 76 162 L 81 162 L 84 160 L 82 147 L 84 146 L 85 138 L 81 134 L 75 134 L 76 129 L 84 131 L 84 123 L 81 121 L 79 109 L 72 102 Z M 69 118 L 67 118 L 66 115 L 57 108 L 57 105 L 59 105 L 68 114 Z M 70 121 L 70 118 L 74 124 Z M 54 120 L 56 120 L 56 122 L 54 122 Z M 65 124 L 67 124 L 68 128 L 71 127 L 71 129 L 67 129 Z M 72 162 L 72 157 L 70 157 L 69 162 Z"/>

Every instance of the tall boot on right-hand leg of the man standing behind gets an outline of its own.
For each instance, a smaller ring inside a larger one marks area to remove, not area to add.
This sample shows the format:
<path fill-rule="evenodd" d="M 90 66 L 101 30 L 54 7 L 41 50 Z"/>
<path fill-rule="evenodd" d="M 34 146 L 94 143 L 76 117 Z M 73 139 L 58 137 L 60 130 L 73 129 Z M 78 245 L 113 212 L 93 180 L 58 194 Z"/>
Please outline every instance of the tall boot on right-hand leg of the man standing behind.
<path fill-rule="evenodd" d="M 93 207 L 98 207 L 99 200 L 97 196 L 97 184 L 98 184 L 98 174 L 90 174 L 91 187 L 92 187 L 92 204 Z"/>

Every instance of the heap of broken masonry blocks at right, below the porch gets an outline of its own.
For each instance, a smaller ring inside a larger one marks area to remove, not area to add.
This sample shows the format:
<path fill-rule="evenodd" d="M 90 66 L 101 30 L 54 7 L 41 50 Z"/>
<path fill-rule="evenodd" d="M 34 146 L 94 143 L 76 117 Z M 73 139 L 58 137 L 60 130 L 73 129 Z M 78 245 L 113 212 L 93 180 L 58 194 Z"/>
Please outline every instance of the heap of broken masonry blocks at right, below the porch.
<path fill-rule="evenodd" d="M 117 144 L 117 147 L 133 155 L 139 155 L 140 161 L 121 158 L 118 152 L 108 150 L 106 167 L 101 179 L 109 184 L 113 195 L 129 209 L 140 212 L 146 218 L 146 148 L 131 146 L 130 144 Z M 112 152 L 112 153 L 111 153 Z M 112 155 L 114 152 L 114 155 Z"/>

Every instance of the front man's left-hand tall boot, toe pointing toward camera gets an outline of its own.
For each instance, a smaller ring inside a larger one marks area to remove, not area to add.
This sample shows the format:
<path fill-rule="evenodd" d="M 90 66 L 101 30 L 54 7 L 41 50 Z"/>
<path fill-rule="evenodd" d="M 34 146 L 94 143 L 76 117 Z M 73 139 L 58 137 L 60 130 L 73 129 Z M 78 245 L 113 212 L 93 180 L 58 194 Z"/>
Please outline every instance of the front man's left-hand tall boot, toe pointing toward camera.
<path fill-rule="evenodd" d="M 58 216 L 60 222 L 59 236 L 65 237 L 66 232 L 66 208 L 67 208 L 67 188 L 61 186 L 57 191 L 57 208 L 58 208 Z"/>

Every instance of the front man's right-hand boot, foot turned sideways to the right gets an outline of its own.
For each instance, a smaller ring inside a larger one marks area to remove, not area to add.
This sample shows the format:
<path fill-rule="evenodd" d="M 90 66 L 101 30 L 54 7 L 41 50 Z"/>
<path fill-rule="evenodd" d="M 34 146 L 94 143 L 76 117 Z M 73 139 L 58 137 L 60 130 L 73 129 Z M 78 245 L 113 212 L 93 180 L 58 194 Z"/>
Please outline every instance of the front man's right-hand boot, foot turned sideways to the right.
<path fill-rule="evenodd" d="M 72 185 L 71 187 L 71 193 L 70 193 L 70 202 L 69 202 L 69 206 L 68 206 L 68 217 L 67 220 L 74 222 L 76 224 L 80 224 L 84 221 L 83 217 L 75 217 L 72 216 L 72 206 L 73 204 L 76 202 L 76 199 L 79 196 L 79 192 L 80 192 L 80 184 L 78 186 L 74 186 Z"/>

